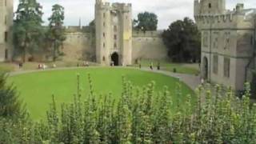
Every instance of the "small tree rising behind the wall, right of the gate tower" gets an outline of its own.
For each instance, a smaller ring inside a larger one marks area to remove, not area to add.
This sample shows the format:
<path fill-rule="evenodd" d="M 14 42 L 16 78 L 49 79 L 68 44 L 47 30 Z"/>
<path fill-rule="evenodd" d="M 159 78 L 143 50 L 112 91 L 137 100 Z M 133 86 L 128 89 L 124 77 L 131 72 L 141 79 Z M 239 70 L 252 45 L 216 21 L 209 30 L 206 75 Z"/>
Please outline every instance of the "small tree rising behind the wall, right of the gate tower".
<path fill-rule="evenodd" d="M 157 30 L 158 16 L 154 13 L 144 12 L 138 14 L 138 19 L 133 22 L 135 30 Z"/>

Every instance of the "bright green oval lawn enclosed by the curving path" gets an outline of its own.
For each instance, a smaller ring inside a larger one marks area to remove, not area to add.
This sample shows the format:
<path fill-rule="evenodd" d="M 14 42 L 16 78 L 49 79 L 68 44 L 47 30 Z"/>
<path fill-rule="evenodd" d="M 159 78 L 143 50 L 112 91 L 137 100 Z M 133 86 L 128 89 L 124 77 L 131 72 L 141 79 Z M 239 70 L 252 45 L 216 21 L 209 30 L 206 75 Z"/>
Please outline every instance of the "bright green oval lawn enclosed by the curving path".
<path fill-rule="evenodd" d="M 52 94 L 55 95 L 58 106 L 62 102 L 71 102 L 77 90 L 77 74 L 80 74 L 82 85 L 82 97 L 88 93 L 88 74 L 94 82 L 96 94 L 108 94 L 112 92 L 118 97 L 122 92 L 122 75 L 134 83 L 134 86 L 144 86 L 149 82 L 156 83 L 156 91 L 168 86 L 171 94 L 174 95 L 174 102 L 177 101 L 174 89 L 178 79 L 170 78 L 163 74 L 155 74 L 141 70 L 122 68 L 89 68 L 76 70 L 53 70 L 42 71 L 30 74 L 20 74 L 10 77 L 20 92 L 21 98 L 26 102 L 30 115 L 35 120 L 45 118 L 46 110 L 49 108 Z M 194 94 L 188 86 L 182 83 L 181 101 L 186 94 Z"/>

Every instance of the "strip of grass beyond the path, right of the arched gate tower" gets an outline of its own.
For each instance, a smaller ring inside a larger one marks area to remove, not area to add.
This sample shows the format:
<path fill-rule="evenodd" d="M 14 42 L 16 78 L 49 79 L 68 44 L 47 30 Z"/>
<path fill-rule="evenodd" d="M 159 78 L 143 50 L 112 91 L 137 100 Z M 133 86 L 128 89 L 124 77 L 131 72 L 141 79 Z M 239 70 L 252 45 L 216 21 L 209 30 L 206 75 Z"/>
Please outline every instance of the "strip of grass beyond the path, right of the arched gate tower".
<path fill-rule="evenodd" d="M 158 61 L 156 61 L 156 60 L 142 60 L 141 64 L 144 67 L 148 67 L 148 66 L 150 66 L 151 62 L 153 62 L 153 64 L 154 64 L 154 69 L 156 69 L 156 66 L 158 66 Z M 174 72 L 174 69 L 175 69 L 176 73 L 180 73 L 180 74 L 199 74 L 197 63 L 195 63 L 195 64 L 171 63 L 171 62 L 167 62 L 164 60 L 159 61 L 159 62 L 160 62 L 160 66 L 161 66 L 162 70 Z M 136 64 L 134 66 L 138 66 L 138 64 Z"/>

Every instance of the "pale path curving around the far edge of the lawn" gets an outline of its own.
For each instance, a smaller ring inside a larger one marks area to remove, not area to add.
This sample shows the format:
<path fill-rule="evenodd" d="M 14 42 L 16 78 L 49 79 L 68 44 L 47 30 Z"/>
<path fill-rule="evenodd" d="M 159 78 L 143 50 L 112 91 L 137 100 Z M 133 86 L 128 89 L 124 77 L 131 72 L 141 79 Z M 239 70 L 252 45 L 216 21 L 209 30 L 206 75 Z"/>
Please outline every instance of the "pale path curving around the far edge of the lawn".
<path fill-rule="evenodd" d="M 90 66 L 90 68 L 98 68 L 99 66 Z M 172 73 L 170 71 L 164 71 L 164 70 L 150 70 L 149 68 L 143 67 L 142 69 L 138 69 L 135 67 L 118 67 L 118 68 L 130 68 L 130 69 L 136 69 L 136 70 L 144 70 L 144 71 L 150 71 L 158 74 L 165 74 L 170 77 L 178 78 L 181 82 L 184 82 L 187 86 L 190 87 L 190 89 L 195 90 L 198 85 L 200 85 L 200 78 L 199 76 L 195 76 L 192 74 L 177 74 Z M 50 71 L 50 70 L 72 70 L 72 69 L 86 69 L 85 67 L 63 67 L 63 68 L 55 68 L 55 69 L 46 69 L 46 70 L 26 70 L 26 71 L 15 71 L 10 72 L 10 76 L 18 75 L 18 74 L 27 74 L 27 73 L 34 73 L 38 71 Z"/>

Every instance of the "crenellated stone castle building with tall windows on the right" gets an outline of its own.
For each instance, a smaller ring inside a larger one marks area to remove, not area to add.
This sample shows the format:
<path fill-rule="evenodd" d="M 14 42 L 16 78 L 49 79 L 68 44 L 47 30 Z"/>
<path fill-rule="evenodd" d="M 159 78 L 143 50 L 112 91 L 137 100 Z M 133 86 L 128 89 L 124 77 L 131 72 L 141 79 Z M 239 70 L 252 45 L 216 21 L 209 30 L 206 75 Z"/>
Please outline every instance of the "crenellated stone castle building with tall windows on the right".
<path fill-rule="evenodd" d="M 255 66 L 256 9 L 225 0 L 194 0 L 194 18 L 202 32 L 202 78 L 243 90 Z"/>

